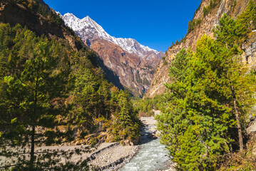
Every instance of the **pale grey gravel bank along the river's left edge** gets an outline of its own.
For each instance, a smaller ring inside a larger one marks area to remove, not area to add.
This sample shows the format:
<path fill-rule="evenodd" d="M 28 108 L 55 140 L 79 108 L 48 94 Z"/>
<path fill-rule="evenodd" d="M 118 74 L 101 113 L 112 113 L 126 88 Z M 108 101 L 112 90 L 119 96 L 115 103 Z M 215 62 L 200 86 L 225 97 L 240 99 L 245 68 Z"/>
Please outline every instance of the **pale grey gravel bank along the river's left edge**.
<path fill-rule="evenodd" d="M 64 150 L 73 151 L 75 149 L 86 150 L 85 145 L 75 146 L 50 146 L 50 147 L 39 147 L 39 150 Z M 138 146 L 123 146 L 119 142 L 104 142 L 98 145 L 97 148 L 91 149 L 90 152 L 83 152 L 81 155 L 74 154 L 70 161 L 77 162 L 78 160 L 88 159 L 88 165 L 91 167 L 98 167 L 100 170 L 118 170 L 124 163 L 129 162 L 130 159 L 138 151 Z M 64 159 L 61 161 L 64 162 Z"/>

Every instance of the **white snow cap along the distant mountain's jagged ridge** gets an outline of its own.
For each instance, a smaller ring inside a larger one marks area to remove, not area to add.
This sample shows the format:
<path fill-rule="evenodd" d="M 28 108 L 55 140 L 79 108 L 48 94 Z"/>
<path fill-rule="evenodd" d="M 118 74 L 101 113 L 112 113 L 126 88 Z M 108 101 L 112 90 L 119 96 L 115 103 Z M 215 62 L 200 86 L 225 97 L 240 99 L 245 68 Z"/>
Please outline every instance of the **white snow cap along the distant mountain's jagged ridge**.
<path fill-rule="evenodd" d="M 59 14 L 59 13 L 58 13 Z M 61 16 L 61 14 L 60 14 Z M 155 53 L 159 58 L 163 56 L 163 52 L 155 51 L 148 46 L 143 46 L 138 41 L 135 41 L 133 38 L 116 38 L 110 36 L 102 26 L 98 25 L 96 21 L 93 21 L 89 16 L 86 16 L 83 19 L 78 19 L 73 14 L 67 13 L 61 16 L 63 21 L 66 23 L 66 26 L 69 26 L 73 31 L 82 38 L 83 41 L 88 43 L 89 41 L 95 38 L 103 38 L 107 41 L 115 43 L 118 46 L 121 46 L 123 50 L 128 51 L 129 53 L 135 53 L 138 56 L 147 56 L 149 53 Z"/>

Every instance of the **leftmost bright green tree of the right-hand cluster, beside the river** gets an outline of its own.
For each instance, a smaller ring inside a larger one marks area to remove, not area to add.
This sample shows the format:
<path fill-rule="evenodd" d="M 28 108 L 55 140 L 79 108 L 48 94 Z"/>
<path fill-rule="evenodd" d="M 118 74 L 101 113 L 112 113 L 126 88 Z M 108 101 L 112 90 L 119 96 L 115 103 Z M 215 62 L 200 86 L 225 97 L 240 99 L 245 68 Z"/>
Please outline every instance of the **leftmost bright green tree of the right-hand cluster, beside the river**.
<path fill-rule="evenodd" d="M 164 95 L 163 104 L 161 107 L 162 114 L 156 115 L 158 120 L 158 130 L 161 133 L 161 142 L 166 145 L 170 156 L 173 160 L 182 163 L 180 160 L 185 159 L 183 156 L 178 157 L 178 153 L 184 151 L 180 148 L 181 140 L 185 136 L 185 130 L 188 129 L 190 123 L 185 111 L 185 77 L 188 75 L 188 61 L 193 53 L 182 49 L 177 54 L 175 61 L 170 65 L 171 83 L 166 84 L 168 91 Z M 185 154 L 193 154 L 189 150 Z M 196 162 L 196 160 L 194 160 Z"/>

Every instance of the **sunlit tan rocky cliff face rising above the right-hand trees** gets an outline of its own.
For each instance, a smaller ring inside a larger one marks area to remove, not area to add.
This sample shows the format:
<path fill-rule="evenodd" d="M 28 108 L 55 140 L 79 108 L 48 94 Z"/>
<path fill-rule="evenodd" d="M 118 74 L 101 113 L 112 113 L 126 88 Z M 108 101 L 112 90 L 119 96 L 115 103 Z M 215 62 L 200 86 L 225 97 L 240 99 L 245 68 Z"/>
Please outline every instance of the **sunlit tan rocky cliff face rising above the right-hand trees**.
<path fill-rule="evenodd" d="M 222 17 L 222 14 L 227 14 L 236 18 L 242 11 L 245 11 L 247 4 L 250 0 L 216 0 L 216 6 L 210 9 L 209 14 L 204 16 L 204 7 L 210 6 L 210 0 L 203 0 L 195 11 L 193 21 L 200 21 L 200 24 L 196 25 L 195 28 L 187 34 L 184 41 L 176 43 L 174 46 L 168 48 L 165 53 L 164 60 L 160 61 L 155 69 L 155 75 L 150 84 L 150 89 L 146 93 L 146 97 L 154 97 L 157 94 L 164 93 L 164 83 L 169 81 L 168 71 L 170 62 L 175 59 L 176 54 L 182 49 L 188 49 L 189 47 L 195 51 L 195 45 L 198 39 L 204 34 L 213 37 L 213 28 L 217 26 L 218 21 Z M 256 32 L 252 33 L 250 40 L 244 46 L 245 53 L 243 54 L 244 60 L 247 60 L 251 64 L 251 67 L 256 66 Z"/>

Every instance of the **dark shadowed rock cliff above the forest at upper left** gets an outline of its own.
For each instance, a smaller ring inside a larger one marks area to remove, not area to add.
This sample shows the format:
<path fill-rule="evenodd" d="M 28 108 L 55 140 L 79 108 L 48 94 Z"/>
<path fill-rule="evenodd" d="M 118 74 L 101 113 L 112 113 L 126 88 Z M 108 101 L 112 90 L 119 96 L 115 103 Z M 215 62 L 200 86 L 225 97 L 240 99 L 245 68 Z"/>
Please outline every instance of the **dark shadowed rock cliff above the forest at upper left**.
<path fill-rule="evenodd" d="M 49 7 L 46 5 L 46 11 L 48 11 L 48 9 Z M 51 12 L 55 13 L 53 10 Z M 75 33 L 69 30 L 61 19 L 59 19 L 58 22 L 59 23 L 53 21 L 53 19 L 49 19 L 49 17 L 36 14 L 36 12 L 27 9 L 27 7 L 22 4 L 10 2 L 3 2 L 3 4 L 1 4 L 0 23 L 9 23 L 11 26 L 21 24 L 21 26 L 26 26 L 31 31 L 34 31 L 38 36 L 44 34 L 50 39 L 53 36 L 56 38 L 65 38 L 73 49 L 80 50 L 81 48 L 86 48 L 88 50 L 87 46 L 74 38 Z"/>

